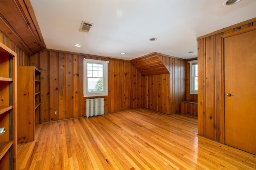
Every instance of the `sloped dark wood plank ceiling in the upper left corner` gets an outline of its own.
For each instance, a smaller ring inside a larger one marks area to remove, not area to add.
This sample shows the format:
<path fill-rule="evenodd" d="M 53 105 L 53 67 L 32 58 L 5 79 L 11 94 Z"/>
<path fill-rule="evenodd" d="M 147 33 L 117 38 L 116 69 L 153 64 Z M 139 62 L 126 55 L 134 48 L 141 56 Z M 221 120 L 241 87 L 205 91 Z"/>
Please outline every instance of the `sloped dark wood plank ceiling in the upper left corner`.
<path fill-rule="evenodd" d="M 28 56 L 46 49 L 29 0 L 0 0 L 0 31 Z"/>

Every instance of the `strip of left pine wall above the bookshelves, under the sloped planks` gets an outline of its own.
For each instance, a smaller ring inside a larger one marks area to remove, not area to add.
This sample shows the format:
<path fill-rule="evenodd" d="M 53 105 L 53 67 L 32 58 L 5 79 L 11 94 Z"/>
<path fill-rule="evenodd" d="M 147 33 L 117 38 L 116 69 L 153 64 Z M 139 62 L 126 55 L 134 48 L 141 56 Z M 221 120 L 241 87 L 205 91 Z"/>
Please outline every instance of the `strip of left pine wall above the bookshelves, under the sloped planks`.
<path fill-rule="evenodd" d="M 12 49 L 17 54 L 18 65 L 29 65 L 28 55 L 0 31 L 0 42 Z"/>

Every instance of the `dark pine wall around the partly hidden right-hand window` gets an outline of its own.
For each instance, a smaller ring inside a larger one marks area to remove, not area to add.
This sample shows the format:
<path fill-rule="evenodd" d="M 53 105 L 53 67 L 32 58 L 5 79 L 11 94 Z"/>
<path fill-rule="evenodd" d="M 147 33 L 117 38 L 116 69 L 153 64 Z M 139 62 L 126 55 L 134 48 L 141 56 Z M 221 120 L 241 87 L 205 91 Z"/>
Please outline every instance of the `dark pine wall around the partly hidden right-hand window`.
<path fill-rule="evenodd" d="M 186 60 L 186 101 L 197 102 L 197 94 L 190 94 L 190 65 L 189 61 L 197 58 Z"/>

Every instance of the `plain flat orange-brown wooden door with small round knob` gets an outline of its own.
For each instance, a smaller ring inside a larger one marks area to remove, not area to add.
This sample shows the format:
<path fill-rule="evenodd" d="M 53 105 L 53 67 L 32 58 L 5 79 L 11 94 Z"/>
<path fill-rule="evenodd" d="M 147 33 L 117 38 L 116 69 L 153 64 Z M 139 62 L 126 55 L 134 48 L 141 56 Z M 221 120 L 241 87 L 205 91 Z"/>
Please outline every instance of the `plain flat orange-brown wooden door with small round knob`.
<path fill-rule="evenodd" d="M 226 145 L 256 154 L 256 30 L 224 38 L 224 80 Z"/>

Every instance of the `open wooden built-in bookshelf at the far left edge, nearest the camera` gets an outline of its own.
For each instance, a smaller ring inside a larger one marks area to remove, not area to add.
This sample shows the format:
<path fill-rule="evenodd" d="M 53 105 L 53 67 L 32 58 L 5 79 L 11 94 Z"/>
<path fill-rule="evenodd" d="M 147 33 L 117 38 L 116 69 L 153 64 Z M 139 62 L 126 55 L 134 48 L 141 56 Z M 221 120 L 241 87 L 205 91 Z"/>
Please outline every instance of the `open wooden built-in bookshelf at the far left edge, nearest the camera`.
<path fill-rule="evenodd" d="M 16 53 L 0 42 L 0 169 L 16 169 Z"/>

